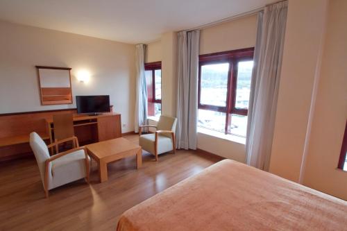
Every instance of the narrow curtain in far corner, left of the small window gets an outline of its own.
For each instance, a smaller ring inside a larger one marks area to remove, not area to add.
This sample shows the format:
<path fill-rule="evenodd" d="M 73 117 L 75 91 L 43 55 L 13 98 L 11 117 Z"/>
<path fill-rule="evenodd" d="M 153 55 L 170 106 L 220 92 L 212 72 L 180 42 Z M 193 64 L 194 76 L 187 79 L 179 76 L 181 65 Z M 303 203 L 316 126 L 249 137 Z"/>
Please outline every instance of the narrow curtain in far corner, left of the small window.
<path fill-rule="evenodd" d="M 147 123 L 147 86 L 144 76 L 144 52 L 146 45 L 137 44 L 135 51 L 136 68 L 136 103 L 135 103 L 135 132 L 139 126 Z"/>

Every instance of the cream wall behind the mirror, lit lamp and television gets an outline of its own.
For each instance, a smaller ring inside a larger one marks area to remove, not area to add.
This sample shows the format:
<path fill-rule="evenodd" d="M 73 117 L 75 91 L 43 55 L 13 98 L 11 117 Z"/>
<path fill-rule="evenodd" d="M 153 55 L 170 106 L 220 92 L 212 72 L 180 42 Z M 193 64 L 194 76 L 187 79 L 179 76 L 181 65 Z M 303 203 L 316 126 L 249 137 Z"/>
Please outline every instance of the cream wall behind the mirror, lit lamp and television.
<path fill-rule="evenodd" d="M 40 105 L 35 65 L 71 67 L 72 94 L 109 94 L 114 111 L 133 130 L 135 46 L 83 35 L 0 22 L 0 113 L 75 108 Z M 76 73 L 87 69 L 90 82 Z"/>

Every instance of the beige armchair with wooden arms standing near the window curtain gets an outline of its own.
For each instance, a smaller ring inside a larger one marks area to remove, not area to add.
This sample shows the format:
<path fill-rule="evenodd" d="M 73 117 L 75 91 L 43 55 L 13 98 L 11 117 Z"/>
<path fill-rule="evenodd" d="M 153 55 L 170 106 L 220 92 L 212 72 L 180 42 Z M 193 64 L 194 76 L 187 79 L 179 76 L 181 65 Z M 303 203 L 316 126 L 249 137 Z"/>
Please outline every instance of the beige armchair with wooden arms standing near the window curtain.
<path fill-rule="evenodd" d="M 139 126 L 139 146 L 145 151 L 158 155 L 169 151 L 176 152 L 175 132 L 177 119 L 174 117 L 160 116 L 158 126 Z M 155 133 L 142 135 L 142 128 L 156 128 Z"/>

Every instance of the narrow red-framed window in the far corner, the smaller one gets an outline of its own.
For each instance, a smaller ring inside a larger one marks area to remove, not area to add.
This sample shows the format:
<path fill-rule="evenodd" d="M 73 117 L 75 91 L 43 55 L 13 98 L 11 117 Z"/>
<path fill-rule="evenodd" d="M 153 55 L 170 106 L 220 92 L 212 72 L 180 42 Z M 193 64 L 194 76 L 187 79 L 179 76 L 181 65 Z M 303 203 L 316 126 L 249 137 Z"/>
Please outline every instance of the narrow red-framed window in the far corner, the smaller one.
<path fill-rule="evenodd" d="M 149 62 L 144 65 L 148 94 L 148 115 L 159 117 L 162 113 L 162 62 Z"/>

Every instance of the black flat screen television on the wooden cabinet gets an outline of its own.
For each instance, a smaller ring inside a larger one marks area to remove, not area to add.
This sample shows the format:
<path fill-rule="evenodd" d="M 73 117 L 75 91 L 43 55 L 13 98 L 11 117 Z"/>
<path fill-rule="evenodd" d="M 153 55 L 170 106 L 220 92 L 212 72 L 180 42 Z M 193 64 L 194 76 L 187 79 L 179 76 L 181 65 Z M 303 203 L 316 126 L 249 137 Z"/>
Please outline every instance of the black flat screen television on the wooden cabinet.
<path fill-rule="evenodd" d="M 110 96 L 76 96 L 78 114 L 110 112 Z"/>

